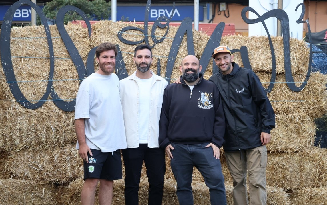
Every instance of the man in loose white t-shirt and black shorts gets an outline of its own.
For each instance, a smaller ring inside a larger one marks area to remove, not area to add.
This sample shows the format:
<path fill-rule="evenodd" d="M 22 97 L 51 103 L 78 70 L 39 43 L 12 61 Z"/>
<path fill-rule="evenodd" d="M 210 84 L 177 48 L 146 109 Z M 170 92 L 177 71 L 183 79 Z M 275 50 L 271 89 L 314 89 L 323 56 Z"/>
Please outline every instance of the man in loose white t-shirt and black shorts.
<path fill-rule="evenodd" d="M 119 79 L 113 73 L 117 52 L 112 43 L 97 47 L 99 70 L 83 80 L 76 96 L 76 149 L 84 161 L 85 180 L 81 204 L 94 204 L 99 181 L 99 203 L 111 204 L 113 180 L 122 179 L 120 149 L 127 146 Z"/>

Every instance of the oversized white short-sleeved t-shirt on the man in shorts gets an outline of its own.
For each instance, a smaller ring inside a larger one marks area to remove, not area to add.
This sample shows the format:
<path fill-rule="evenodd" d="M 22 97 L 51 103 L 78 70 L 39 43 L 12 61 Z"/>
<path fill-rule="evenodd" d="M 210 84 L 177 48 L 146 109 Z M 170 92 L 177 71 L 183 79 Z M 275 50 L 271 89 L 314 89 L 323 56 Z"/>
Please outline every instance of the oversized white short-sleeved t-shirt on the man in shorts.
<path fill-rule="evenodd" d="M 127 148 L 116 74 L 92 73 L 80 84 L 75 119 L 81 118 L 84 118 L 86 144 L 90 149 L 114 152 Z"/>

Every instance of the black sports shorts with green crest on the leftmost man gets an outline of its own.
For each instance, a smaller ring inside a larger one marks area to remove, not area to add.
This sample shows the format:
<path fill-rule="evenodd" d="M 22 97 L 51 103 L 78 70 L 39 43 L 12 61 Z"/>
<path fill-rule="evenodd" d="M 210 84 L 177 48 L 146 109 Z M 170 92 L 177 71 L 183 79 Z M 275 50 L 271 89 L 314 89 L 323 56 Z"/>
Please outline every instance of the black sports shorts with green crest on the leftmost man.
<path fill-rule="evenodd" d="M 97 178 L 106 180 L 122 179 L 122 160 L 120 150 L 101 152 L 91 149 L 93 156 L 88 153 L 89 162 L 84 162 L 84 180 Z"/>

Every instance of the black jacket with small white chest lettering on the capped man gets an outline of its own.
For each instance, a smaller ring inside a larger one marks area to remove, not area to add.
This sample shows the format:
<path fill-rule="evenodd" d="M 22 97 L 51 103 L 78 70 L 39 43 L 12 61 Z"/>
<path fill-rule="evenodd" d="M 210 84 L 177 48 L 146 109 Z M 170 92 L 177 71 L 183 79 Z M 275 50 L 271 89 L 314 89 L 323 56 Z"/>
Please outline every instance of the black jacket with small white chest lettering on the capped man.
<path fill-rule="evenodd" d="M 220 92 L 226 119 L 225 151 L 262 146 L 261 132 L 275 127 L 275 113 L 260 79 L 247 68 L 232 62 L 233 70 L 211 76 Z"/>

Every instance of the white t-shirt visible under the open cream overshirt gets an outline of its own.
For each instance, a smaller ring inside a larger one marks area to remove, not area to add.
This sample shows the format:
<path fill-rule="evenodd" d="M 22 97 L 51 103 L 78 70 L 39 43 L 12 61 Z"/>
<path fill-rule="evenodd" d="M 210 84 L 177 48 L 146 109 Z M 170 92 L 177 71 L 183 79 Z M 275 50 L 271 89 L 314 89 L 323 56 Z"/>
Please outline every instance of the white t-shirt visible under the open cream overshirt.
<path fill-rule="evenodd" d="M 149 79 L 137 78 L 139 86 L 139 143 L 148 142 L 149 108 L 152 77 Z"/>

